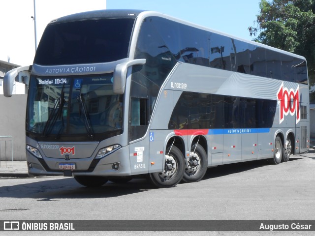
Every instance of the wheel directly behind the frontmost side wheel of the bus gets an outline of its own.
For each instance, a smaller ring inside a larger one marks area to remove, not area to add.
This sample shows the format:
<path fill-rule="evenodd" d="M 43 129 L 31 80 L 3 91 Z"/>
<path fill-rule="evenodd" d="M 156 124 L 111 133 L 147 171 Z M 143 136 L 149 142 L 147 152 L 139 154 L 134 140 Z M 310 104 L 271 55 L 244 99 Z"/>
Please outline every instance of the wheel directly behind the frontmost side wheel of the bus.
<path fill-rule="evenodd" d="M 186 168 L 183 176 L 185 182 L 199 181 L 207 172 L 208 159 L 206 151 L 200 145 L 191 147 L 189 159 L 186 159 Z"/>

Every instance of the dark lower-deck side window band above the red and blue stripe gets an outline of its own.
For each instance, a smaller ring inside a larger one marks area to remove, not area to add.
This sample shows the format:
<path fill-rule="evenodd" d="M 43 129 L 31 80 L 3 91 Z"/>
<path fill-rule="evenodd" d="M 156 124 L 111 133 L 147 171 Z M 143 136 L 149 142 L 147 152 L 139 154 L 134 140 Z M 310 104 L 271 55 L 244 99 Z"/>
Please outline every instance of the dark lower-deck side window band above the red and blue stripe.
<path fill-rule="evenodd" d="M 270 128 L 276 100 L 183 92 L 169 121 L 169 129 Z"/>

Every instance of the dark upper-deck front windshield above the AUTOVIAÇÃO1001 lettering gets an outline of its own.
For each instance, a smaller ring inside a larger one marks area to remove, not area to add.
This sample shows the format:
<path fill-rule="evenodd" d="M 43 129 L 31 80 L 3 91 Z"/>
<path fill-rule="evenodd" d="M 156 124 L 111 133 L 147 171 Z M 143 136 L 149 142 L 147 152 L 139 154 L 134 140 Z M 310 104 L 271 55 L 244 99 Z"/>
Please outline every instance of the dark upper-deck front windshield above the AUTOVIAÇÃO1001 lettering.
<path fill-rule="evenodd" d="M 93 19 L 50 24 L 38 45 L 39 65 L 87 64 L 127 58 L 135 19 Z"/>

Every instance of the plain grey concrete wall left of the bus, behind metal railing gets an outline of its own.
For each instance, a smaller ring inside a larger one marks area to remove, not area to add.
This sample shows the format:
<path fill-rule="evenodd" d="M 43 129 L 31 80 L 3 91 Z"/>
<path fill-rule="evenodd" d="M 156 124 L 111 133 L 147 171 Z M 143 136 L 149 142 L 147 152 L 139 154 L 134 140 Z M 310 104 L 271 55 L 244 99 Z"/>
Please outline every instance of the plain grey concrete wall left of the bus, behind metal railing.
<path fill-rule="evenodd" d="M 13 160 L 25 161 L 25 115 L 27 94 L 4 97 L 0 95 L 0 161 L 11 160 L 11 144 L 13 145 Z"/>

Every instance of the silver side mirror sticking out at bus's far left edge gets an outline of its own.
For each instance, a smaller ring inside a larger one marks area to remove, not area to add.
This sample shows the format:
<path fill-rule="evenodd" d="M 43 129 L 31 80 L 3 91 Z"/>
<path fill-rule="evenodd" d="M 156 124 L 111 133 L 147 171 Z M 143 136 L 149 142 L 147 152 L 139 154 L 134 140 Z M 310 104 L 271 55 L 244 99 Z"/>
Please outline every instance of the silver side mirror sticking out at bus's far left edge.
<path fill-rule="evenodd" d="M 3 78 L 3 95 L 11 97 L 14 81 L 29 85 L 31 69 L 30 65 L 20 66 L 5 73 Z M 18 78 L 17 78 L 18 77 Z M 17 78 L 17 80 L 16 80 Z"/>

